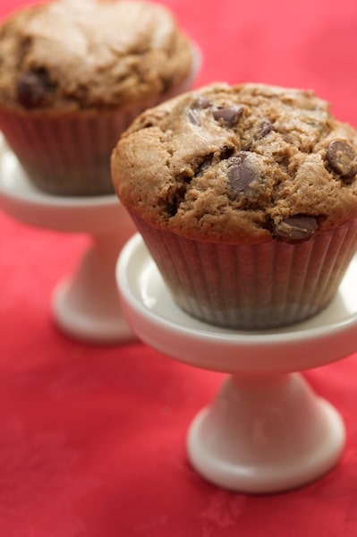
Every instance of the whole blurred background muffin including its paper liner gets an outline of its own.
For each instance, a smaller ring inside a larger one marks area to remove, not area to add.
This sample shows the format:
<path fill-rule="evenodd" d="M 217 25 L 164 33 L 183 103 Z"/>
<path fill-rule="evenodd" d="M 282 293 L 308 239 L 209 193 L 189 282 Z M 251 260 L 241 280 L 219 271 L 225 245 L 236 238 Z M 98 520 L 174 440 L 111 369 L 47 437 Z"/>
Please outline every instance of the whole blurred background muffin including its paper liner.
<path fill-rule="evenodd" d="M 188 90 L 193 62 L 191 43 L 159 4 L 30 6 L 0 27 L 0 128 L 39 189 L 113 193 L 109 160 L 120 132 Z"/>

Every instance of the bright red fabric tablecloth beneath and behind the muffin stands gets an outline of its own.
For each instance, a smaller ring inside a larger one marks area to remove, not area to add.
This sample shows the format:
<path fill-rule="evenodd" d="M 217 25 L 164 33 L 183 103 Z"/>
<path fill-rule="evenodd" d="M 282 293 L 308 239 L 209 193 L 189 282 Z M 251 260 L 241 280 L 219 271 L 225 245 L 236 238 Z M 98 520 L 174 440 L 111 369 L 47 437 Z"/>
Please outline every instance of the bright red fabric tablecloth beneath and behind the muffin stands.
<path fill-rule="evenodd" d="M 200 46 L 197 85 L 313 89 L 357 126 L 355 0 L 163 3 Z M 26 4 L 1 0 L 0 16 Z M 25 226 L 1 210 L 0 237 L 1 537 L 357 535 L 357 354 L 306 373 L 344 418 L 335 470 L 285 494 L 220 490 L 191 469 L 185 439 L 224 375 L 141 343 L 65 337 L 50 297 L 88 237 Z"/>

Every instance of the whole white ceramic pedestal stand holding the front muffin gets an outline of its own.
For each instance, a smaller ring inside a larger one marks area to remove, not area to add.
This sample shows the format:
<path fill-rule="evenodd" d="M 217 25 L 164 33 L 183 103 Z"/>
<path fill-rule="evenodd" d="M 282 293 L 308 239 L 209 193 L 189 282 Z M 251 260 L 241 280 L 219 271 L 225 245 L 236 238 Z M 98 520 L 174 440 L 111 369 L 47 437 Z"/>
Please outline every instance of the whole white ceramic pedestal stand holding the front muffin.
<path fill-rule="evenodd" d="M 173 302 L 140 235 L 116 268 L 123 311 L 138 337 L 176 360 L 229 373 L 211 405 L 191 423 L 188 455 L 208 481 L 268 493 L 317 479 L 336 465 L 344 423 L 301 372 L 357 349 L 357 259 L 325 311 L 266 332 L 217 328 Z"/>

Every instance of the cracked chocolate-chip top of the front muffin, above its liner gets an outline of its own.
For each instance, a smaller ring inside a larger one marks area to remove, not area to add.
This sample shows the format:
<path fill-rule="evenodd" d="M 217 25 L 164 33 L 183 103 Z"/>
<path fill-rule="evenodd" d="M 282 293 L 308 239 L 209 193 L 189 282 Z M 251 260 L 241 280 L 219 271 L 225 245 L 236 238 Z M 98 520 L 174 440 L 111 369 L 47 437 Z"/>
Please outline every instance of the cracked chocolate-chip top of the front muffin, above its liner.
<path fill-rule="evenodd" d="M 357 132 L 313 92 L 211 84 L 141 114 L 112 155 L 123 205 L 209 242 L 298 243 L 357 217 Z"/>

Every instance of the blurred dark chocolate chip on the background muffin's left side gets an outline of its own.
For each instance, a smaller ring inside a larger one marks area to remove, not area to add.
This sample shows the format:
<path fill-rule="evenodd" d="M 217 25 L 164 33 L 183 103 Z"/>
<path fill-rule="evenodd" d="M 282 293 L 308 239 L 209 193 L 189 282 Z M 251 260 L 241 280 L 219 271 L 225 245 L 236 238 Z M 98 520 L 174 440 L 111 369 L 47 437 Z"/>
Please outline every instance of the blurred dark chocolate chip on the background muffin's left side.
<path fill-rule="evenodd" d="M 46 101 L 48 91 L 53 89 L 47 72 L 43 70 L 24 72 L 17 81 L 17 98 L 22 107 L 40 107 Z"/>

